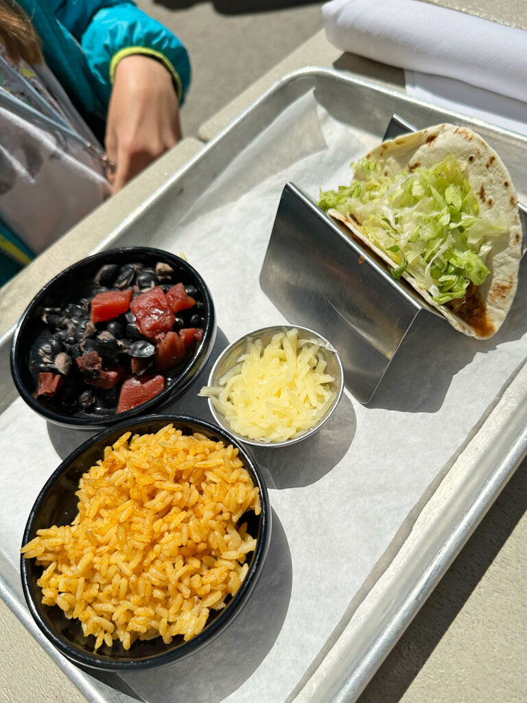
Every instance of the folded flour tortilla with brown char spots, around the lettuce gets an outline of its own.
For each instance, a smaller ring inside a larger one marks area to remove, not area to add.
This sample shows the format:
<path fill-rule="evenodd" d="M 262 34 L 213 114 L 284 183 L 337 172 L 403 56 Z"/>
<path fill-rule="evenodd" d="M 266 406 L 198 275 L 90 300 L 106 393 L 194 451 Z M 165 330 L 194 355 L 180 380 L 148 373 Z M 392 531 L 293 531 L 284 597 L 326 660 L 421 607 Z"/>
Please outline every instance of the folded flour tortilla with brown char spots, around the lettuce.
<path fill-rule="evenodd" d="M 493 248 L 485 260 L 490 274 L 478 288 L 486 308 L 486 329 L 481 331 L 474 328 L 445 307 L 445 304 L 434 302 L 429 292 L 424 290 L 411 274 L 405 272 L 403 278 L 408 280 L 429 304 L 438 309 L 453 327 L 465 335 L 484 339 L 497 332 L 511 307 L 521 258 L 518 201 L 511 177 L 502 160 L 481 136 L 471 129 L 455 127 L 453 124 L 439 124 L 386 141 L 370 151 L 366 158 L 377 163 L 380 173 L 397 176 L 402 171 L 408 172 L 419 166 L 431 168 L 450 154 L 467 164 L 468 181 L 479 202 L 480 214 L 492 211 L 493 216 L 499 215 L 500 224 L 509 228 L 507 234 L 493 240 Z M 387 264 L 393 266 L 393 259 L 367 239 L 360 229 L 360 224 L 334 209 L 330 209 L 328 214 L 344 222 L 357 238 Z"/>

